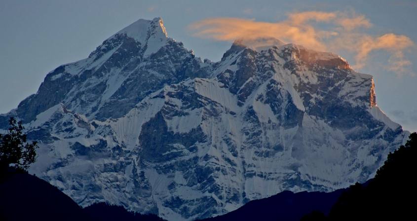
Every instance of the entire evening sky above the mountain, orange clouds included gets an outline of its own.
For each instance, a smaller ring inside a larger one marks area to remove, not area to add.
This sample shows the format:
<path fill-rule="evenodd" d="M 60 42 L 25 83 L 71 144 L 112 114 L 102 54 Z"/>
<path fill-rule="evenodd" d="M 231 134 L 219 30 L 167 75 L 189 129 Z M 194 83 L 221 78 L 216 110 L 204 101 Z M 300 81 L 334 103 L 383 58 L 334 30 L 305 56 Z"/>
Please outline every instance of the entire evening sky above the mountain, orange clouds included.
<path fill-rule="evenodd" d="M 377 105 L 417 131 L 416 11 L 415 0 L 0 0 L 0 113 L 56 67 L 140 18 L 161 17 L 169 37 L 212 61 L 242 35 L 335 52 L 372 74 Z"/>

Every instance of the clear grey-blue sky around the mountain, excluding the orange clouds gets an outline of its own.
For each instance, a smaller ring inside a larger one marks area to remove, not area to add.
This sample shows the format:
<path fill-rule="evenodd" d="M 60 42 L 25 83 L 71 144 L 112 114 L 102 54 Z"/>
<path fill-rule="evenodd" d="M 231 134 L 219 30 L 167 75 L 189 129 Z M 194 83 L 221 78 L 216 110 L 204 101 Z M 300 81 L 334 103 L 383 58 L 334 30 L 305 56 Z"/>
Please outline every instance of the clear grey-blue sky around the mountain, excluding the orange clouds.
<path fill-rule="evenodd" d="M 44 76 L 61 64 L 83 59 L 106 38 L 140 19 L 162 17 L 168 35 L 197 56 L 220 60 L 231 42 L 194 37 L 188 26 L 198 20 L 236 17 L 279 22 L 288 13 L 348 11 L 373 26 L 366 33 L 405 35 L 417 43 L 417 1 L 278 1 L 278 0 L 0 0 L 0 113 L 38 90 Z M 353 57 L 337 51 L 349 63 Z M 417 73 L 417 50 L 405 53 Z M 405 129 L 417 131 L 417 77 L 386 70 L 383 51 L 370 54 L 357 71 L 375 77 L 377 103 Z"/>

